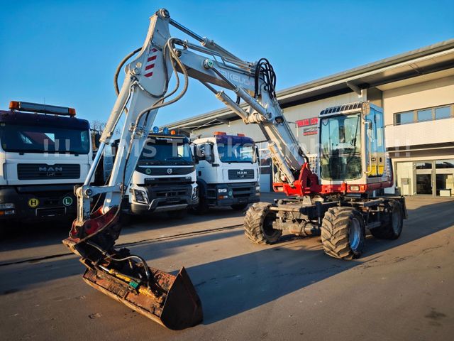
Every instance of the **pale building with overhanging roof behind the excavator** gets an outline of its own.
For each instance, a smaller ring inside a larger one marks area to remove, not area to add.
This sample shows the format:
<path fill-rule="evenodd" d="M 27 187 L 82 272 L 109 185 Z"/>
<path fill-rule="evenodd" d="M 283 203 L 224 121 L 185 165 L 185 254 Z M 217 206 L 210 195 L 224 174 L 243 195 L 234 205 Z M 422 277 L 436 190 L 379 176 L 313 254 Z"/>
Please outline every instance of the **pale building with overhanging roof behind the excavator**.
<path fill-rule="evenodd" d="M 284 116 L 307 153 L 318 151 L 318 115 L 327 107 L 370 101 L 384 109 L 394 166 L 389 193 L 454 197 L 454 39 L 403 53 L 277 93 Z M 258 126 L 228 109 L 167 125 L 185 134 L 241 132 L 260 151 L 260 187 L 270 191 L 272 164 Z"/>

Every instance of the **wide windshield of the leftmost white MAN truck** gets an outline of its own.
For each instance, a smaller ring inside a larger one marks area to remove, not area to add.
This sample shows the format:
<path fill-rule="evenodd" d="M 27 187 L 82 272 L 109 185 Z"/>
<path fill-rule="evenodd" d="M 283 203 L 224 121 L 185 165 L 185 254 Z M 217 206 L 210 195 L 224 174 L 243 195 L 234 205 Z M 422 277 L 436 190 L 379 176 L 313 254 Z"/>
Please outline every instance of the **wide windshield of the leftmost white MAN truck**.
<path fill-rule="evenodd" d="M 90 151 L 87 129 L 39 124 L 0 123 L 0 144 L 9 152 L 88 154 Z"/>

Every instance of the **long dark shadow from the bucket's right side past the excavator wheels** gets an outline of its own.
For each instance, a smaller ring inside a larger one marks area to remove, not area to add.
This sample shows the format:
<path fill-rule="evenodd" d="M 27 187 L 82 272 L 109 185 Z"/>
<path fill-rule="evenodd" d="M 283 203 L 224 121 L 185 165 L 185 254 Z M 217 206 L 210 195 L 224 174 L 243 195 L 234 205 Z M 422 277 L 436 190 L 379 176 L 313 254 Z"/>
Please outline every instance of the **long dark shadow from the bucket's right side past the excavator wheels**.
<path fill-rule="evenodd" d="M 379 254 L 454 226 L 453 209 L 454 201 L 448 201 L 409 210 L 402 236 L 396 240 L 367 238 L 363 256 Z M 289 239 L 292 240 L 292 236 L 281 243 Z M 372 257 L 367 264 L 361 259 L 340 261 L 323 254 L 321 249 L 308 250 L 300 247 L 301 244 L 289 249 L 292 244 L 285 247 L 279 244 L 187 269 L 201 297 L 204 324 L 257 308 L 345 270 L 374 266 L 380 258 Z M 399 261 L 401 257 L 394 259 L 394 262 Z"/>

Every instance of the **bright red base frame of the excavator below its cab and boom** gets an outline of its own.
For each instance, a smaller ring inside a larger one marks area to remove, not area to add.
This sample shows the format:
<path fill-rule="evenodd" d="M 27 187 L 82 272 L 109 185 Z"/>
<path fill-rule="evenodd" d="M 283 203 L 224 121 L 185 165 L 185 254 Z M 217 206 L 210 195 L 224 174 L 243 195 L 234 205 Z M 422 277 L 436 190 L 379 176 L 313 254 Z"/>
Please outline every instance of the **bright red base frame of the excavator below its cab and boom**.
<path fill-rule="evenodd" d="M 381 183 L 355 184 L 348 185 L 319 185 L 319 177 L 312 173 L 309 164 L 304 163 L 299 172 L 298 180 L 293 185 L 288 183 L 273 183 L 272 188 L 275 192 L 284 192 L 288 196 L 304 195 L 327 195 L 327 194 L 347 194 L 347 193 L 369 193 L 372 190 L 391 187 L 393 180 Z"/>

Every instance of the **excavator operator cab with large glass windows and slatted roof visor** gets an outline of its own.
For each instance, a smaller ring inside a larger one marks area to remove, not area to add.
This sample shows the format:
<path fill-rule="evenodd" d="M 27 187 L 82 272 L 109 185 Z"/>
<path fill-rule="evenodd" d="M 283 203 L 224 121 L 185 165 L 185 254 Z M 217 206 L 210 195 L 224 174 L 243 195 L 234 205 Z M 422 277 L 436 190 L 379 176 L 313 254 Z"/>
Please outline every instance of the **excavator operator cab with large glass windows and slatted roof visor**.
<path fill-rule="evenodd" d="M 380 107 L 356 102 L 325 109 L 320 114 L 319 130 L 318 176 L 322 188 L 368 193 L 392 184 Z"/>

